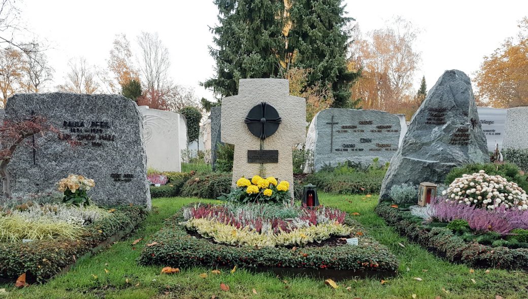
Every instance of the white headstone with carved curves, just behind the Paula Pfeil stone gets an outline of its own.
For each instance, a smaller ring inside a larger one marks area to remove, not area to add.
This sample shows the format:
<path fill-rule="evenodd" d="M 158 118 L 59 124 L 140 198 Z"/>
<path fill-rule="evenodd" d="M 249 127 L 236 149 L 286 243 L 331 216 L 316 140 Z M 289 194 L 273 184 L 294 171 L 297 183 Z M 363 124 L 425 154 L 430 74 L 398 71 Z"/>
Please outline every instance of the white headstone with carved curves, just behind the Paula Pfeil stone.
<path fill-rule="evenodd" d="M 143 136 L 147 166 L 158 171 L 182 171 L 181 150 L 187 145 L 183 115 L 139 106 L 143 115 Z"/>

